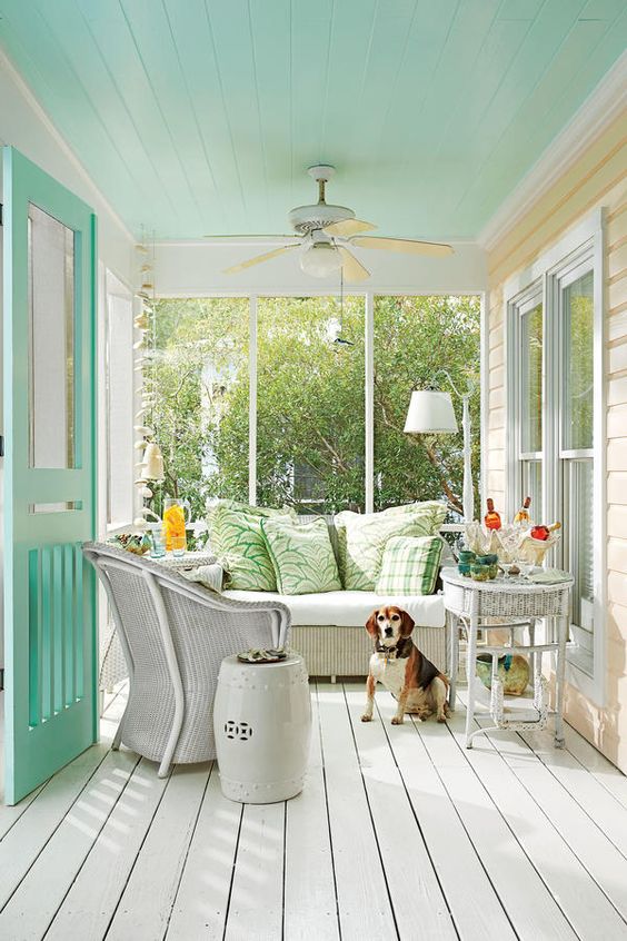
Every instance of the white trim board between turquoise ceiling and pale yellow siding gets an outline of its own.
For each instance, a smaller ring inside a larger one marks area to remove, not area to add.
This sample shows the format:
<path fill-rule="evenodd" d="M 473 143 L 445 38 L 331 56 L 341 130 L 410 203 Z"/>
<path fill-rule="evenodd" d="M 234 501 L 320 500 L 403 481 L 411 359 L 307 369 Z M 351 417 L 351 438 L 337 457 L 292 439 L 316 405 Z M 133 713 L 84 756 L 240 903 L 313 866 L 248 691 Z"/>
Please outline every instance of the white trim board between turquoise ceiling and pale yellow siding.
<path fill-rule="evenodd" d="M 481 248 L 491 251 L 626 107 L 627 51 L 484 226 Z"/>

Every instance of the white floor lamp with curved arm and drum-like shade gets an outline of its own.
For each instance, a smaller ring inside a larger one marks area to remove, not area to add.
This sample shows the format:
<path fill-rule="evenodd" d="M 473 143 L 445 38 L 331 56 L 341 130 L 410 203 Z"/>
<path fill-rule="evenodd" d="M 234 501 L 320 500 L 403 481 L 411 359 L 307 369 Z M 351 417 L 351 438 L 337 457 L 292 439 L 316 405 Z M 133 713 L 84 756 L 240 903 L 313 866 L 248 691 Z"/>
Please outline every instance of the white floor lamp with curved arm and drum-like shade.
<path fill-rule="evenodd" d="M 432 377 L 428 388 L 415 389 L 411 393 L 404 432 L 407 435 L 448 435 L 456 434 L 459 430 L 450 393 L 441 392 L 435 385 L 438 376 L 444 376 L 448 379 L 454 394 L 462 403 L 464 495 L 461 504 L 464 507 L 464 522 L 471 523 L 475 517 L 475 496 L 470 464 L 472 455 L 470 444 L 470 396 L 475 388 L 474 384 L 468 380 L 467 390 L 459 393 L 446 369 L 439 369 Z"/>

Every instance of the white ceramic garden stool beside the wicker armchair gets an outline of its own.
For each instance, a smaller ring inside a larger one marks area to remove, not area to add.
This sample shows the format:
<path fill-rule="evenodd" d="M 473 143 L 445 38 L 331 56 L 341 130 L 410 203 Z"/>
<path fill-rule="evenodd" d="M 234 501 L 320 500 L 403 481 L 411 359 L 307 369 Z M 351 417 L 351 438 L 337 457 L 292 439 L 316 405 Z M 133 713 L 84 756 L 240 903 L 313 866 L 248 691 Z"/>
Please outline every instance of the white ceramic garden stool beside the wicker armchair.
<path fill-rule="evenodd" d="M 271 804 L 302 791 L 311 739 L 311 700 L 305 661 L 222 661 L 213 704 L 222 794 Z"/>

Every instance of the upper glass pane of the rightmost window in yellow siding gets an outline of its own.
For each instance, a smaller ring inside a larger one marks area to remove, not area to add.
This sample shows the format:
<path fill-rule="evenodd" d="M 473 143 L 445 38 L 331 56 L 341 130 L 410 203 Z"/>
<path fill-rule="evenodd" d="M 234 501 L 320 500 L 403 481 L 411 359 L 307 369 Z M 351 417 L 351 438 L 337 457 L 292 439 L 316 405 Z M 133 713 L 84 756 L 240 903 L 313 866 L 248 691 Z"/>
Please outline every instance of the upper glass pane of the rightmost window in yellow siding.
<path fill-rule="evenodd" d="M 588 271 L 563 288 L 564 428 L 566 450 L 593 447 L 594 277 Z"/>

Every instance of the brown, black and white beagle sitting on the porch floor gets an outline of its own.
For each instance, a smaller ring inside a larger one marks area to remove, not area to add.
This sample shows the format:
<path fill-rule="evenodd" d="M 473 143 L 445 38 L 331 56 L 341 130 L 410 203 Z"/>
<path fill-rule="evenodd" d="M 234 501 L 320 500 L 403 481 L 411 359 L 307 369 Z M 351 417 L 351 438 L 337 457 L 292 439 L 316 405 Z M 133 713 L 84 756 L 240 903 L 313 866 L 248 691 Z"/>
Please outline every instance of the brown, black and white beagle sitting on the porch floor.
<path fill-rule="evenodd" d="M 401 725 L 406 712 L 417 715 L 420 722 L 435 712 L 438 722 L 446 722 L 448 676 L 411 640 L 414 621 L 408 613 L 395 605 L 380 607 L 368 618 L 366 630 L 375 641 L 375 652 L 370 657 L 361 722 L 372 721 L 377 682 L 398 700 L 392 725 Z"/>

